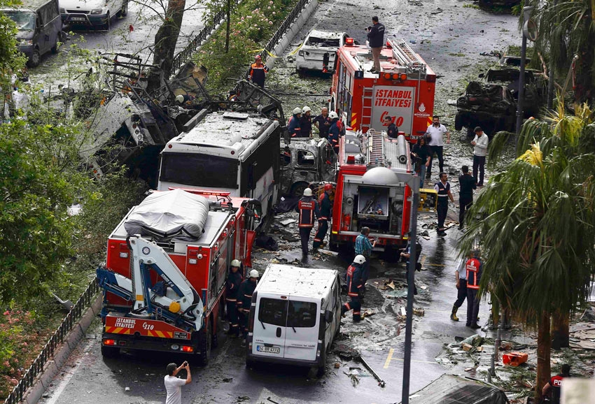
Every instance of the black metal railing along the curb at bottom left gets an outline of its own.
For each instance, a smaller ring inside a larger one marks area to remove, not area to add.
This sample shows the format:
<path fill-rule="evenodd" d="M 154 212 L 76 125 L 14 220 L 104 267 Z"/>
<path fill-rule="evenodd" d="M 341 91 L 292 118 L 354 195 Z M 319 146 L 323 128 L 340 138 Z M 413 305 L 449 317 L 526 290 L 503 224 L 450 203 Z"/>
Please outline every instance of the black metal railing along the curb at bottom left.
<path fill-rule="evenodd" d="M 85 290 L 83 294 L 80 295 L 80 298 L 78 298 L 76 304 L 73 305 L 68 315 L 64 317 L 62 324 L 59 325 L 52 337 L 48 340 L 48 342 L 45 343 L 45 347 L 41 349 L 41 353 L 37 356 L 33 363 L 31 363 L 31 366 L 21 378 L 19 384 L 15 386 L 13 391 L 6 398 L 4 404 L 17 404 L 22 401 L 25 391 L 27 391 L 27 389 L 29 389 L 29 387 L 34 384 L 35 377 L 43 372 L 45 363 L 48 363 L 48 360 L 52 358 L 58 345 L 64 342 L 64 337 L 66 337 L 73 329 L 73 326 L 76 326 L 78 319 L 83 315 L 85 309 L 87 309 L 92 304 L 92 299 L 98 291 L 99 284 L 97 284 L 97 278 L 94 278 L 94 280 L 92 280 L 92 282 L 87 287 L 87 290 Z"/>

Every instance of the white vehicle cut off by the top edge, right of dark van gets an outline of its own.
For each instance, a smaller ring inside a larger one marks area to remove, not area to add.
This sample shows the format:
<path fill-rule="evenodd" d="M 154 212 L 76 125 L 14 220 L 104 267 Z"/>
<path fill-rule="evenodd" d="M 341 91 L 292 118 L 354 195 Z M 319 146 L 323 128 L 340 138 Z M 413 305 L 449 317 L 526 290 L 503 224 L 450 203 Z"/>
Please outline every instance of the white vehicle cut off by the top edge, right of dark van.
<path fill-rule="evenodd" d="M 109 30 L 111 19 L 128 13 L 128 0 L 59 0 L 62 22 Z"/>

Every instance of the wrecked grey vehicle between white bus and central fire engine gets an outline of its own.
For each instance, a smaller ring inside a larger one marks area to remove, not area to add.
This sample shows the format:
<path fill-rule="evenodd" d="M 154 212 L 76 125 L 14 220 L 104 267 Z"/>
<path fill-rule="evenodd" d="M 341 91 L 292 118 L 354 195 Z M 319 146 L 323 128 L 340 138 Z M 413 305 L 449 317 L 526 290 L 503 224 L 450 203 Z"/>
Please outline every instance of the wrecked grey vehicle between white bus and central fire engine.
<path fill-rule="evenodd" d="M 281 149 L 281 194 L 302 196 L 313 182 L 335 181 L 337 154 L 326 139 L 295 140 Z"/>

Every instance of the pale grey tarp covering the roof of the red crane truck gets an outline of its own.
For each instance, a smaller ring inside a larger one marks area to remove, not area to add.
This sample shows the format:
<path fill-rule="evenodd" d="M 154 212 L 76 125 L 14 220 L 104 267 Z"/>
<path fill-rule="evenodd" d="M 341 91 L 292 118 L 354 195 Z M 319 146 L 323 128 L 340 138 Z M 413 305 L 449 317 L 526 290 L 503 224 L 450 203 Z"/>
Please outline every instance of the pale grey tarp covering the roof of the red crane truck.
<path fill-rule="evenodd" d="M 197 240 L 209 215 L 204 196 L 181 189 L 155 192 L 130 214 L 124 228 L 129 236 L 153 236 L 157 240 Z"/>

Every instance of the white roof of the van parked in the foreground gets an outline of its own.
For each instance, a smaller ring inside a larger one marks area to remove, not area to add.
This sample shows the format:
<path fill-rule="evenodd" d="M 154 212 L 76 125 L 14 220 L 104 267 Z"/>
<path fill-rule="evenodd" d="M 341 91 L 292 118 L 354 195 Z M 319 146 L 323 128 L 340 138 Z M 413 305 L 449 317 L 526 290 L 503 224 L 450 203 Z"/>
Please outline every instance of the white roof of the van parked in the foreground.
<path fill-rule="evenodd" d="M 258 282 L 258 291 L 309 298 L 323 298 L 330 292 L 337 271 L 270 264 Z"/>

